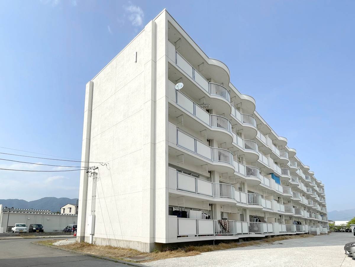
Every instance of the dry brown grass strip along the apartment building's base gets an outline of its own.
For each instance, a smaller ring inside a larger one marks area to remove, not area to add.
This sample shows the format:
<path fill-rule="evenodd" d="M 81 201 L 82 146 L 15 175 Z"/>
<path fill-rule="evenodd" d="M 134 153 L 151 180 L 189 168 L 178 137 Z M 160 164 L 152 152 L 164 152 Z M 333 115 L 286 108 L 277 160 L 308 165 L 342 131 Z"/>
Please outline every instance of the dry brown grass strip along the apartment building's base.
<path fill-rule="evenodd" d="M 185 246 L 185 247 L 180 247 L 178 249 L 164 250 L 164 251 L 154 250 L 153 252 L 150 253 L 144 253 L 135 249 L 127 249 L 123 247 L 99 246 L 99 245 L 89 244 L 85 242 L 69 244 L 60 247 L 64 249 L 73 250 L 73 251 L 89 253 L 96 256 L 113 258 L 116 260 L 121 260 L 122 258 L 125 257 L 144 256 L 144 257 L 151 258 L 151 260 L 142 261 L 142 262 L 148 262 L 148 261 L 164 260 L 167 258 L 195 256 L 201 254 L 202 252 L 234 249 L 237 247 L 272 244 L 275 241 L 281 241 L 286 239 L 298 239 L 304 237 L 312 237 L 312 235 L 308 235 L 308 234 L 287 235 L 287 236 L 282 235 L 282 236 L 269 237 L 263 240 L 242 241 L 242 242 L 237 241 L 237 242 L 219 243 L 218 245 Z M 57 240 L 44 240 L 44 241 L 38 241 L 37 243 L 44 244 L 44 245 L 53 245 L 55 241 Z"/>

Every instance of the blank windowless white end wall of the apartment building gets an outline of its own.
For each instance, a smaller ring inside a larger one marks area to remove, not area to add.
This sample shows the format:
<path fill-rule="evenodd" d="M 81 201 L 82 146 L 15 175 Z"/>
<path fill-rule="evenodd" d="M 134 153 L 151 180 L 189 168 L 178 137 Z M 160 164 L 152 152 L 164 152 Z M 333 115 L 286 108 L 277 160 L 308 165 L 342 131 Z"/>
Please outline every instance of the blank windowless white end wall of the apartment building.
<path fill-rule="evenodd" d="M 108 162 L 98 165 L 96 244 L 149 251 L 168 238 L 166 30 L 162 12 L 87 85 L 82 159 Z M 89 237 L 91 197 L 82 172 L 78 240 Z"/>

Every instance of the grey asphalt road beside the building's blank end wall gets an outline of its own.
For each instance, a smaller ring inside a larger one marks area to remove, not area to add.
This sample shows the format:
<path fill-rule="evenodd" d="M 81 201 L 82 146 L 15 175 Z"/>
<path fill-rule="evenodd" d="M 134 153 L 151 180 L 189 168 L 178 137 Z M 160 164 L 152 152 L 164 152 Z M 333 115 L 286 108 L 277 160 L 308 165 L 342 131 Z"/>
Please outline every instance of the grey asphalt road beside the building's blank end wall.
<path fill-rule="evenodd" d="M 62 238 L 65 239 L 65 238 Z M 64 250 L 32 244 L 39 239 L 0 240 L 1 267 L 105 267 L 125 266 L 113 261 L 78 255 Z M 43 240 L 43 239 L 40 239 Z"/>

